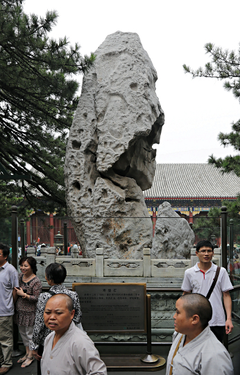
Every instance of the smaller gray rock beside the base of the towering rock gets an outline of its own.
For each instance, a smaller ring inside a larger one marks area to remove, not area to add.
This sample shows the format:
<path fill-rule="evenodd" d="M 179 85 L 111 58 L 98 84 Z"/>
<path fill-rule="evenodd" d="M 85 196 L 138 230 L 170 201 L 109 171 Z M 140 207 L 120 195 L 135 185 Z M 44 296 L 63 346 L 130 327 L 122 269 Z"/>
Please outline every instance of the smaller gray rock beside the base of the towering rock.
<path fill-rule="evenodd" d="M 152 258 L 190 259 L 194 239 L 187 220 L 180 218 L 169 202 L 162 203 L 157 211 Z"/>

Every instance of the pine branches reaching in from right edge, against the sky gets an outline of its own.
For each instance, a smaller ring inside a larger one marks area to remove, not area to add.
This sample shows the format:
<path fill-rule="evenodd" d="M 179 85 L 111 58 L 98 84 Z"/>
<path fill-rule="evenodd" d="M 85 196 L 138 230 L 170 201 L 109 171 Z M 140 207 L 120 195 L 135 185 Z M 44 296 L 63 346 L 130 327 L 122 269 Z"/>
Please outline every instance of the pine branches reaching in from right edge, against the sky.
<path fill-rule="evenodd" d="M 190 73 L 193 78 L 207 77 L 223 80 L 225 90 L 232 92 L 234 97 L 240 103 L 240 44 L 239 50 L 229 51 L 216 47 L 212 43 L 205 44 L 205 51 L 211 57 L 211 61 L 205 64 L 205 67 L 199 67 L 194 70 L 187 65 L 183 65 L 185 73 Z M 232 146 L 236 151 L 240 151 L 240 119 L 232 123 L 230 133 L 219 133 L 218 140 L 223 147 Z M 236 156 L 226 156 L 225 158 L 216 158 L 209 156 L 208 163 L 221 169 L 223 173 L 234 172 L 240 177 L 240 154 Z M 225 202 L 226 203 L 226 202 Z M 226 203 L 230 215 L 236 217 L 240 210 L 240 196 L 234 203 Z"/>

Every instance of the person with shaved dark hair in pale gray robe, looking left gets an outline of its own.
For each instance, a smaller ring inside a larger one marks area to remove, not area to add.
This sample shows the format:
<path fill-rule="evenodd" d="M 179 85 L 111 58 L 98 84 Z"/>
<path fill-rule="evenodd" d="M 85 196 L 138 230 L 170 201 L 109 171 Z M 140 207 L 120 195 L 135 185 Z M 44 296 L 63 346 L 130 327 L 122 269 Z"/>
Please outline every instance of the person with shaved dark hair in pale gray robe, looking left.
<path fill-rule="evenodd" d="M 212 306 L 202 294 L 185 294 L 176 302 L 175 333 L 166 375 L 233 375 L 232 360 L 208 325 Z"/>

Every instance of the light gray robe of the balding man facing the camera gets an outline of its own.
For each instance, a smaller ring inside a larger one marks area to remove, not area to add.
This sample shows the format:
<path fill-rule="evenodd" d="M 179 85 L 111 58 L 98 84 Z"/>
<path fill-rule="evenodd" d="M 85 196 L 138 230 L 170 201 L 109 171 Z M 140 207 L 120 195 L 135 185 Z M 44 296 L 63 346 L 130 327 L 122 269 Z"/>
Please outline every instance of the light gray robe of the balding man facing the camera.
<path fill-rule="evenodd" d="M 44 342 L 42 375 L 107 375 L 94 343 L 74 322 L 52 350 L 54 336 L 55 332 L 50 333 Z"/>

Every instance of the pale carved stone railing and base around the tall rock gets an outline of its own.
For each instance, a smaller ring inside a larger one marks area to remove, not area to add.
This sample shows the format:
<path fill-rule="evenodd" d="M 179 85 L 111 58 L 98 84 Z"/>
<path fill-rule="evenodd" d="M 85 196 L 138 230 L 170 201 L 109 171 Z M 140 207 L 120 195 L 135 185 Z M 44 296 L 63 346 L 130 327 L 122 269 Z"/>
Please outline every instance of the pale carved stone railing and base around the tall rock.
<path fill-rule="evenodd" d="M 41 249 L 37 260 L 37 276 L 42 285 L 47 286 L 44 278 L 46 266 L 56 262 L 67 269 L 65 286 L 72 283 L 146 283 L 151 288 L 151 315 L 153 342 L 170 342 L 174 332 L 173 315 L 175 302 L 182 294 L 173 288 L 182 285 L 185 270 L 196 265 L 196 249 L 191 249 L 191 259 L 151 259 L 151 249 L 144 249 L 143 259 L 104 258 L 104 249 L 96 249 L 96 257 L 87 259 L 71 251 L 71 256 L 56 256 L 54 247 Z M 35 249 L 28 248 L 28 255 L 35 256 Z M 214 249 L 213 262 L 221 265 L 221 249 Z M 164 288 L 164 292 L 159 289 Z M 166 292 L 169 289 L 169 292 Z M 138 333 L 95 334 L 94 342 L 146 342 L 146 335 Z"/>

